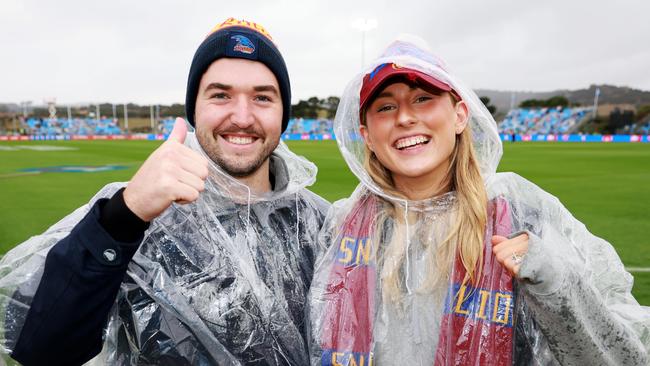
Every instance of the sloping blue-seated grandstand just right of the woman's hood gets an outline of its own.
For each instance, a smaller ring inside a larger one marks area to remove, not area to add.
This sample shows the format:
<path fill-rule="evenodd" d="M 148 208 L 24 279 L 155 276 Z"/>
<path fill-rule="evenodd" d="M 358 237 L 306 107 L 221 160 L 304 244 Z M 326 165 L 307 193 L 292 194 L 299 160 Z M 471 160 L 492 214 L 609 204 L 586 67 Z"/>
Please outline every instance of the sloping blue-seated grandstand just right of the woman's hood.
<path fill-rule="evenodd" d="M 499 132 L 506 134 L 568 134 L 577 131 L 586 121 L 592 108 L 516 108 L 508 112 L 499 124 Z"/>

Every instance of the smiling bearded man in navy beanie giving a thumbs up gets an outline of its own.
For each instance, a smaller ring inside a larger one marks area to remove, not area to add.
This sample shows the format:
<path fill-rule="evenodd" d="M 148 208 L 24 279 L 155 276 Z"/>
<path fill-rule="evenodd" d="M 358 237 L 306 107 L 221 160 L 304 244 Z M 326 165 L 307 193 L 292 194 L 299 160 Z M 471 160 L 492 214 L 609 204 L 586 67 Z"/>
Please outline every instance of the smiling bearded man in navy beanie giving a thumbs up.
<path fill-rule="evenodd" d="M 269 34 L 218 25 L 189 73 L 195 133 L 177 120 L 126 187 L 106 186 L 3 258 L 11 356 L 308 364 L 304 304 L 328 204 L 305 189 L 315 166 L 279 143 L 290 101 Z"/>

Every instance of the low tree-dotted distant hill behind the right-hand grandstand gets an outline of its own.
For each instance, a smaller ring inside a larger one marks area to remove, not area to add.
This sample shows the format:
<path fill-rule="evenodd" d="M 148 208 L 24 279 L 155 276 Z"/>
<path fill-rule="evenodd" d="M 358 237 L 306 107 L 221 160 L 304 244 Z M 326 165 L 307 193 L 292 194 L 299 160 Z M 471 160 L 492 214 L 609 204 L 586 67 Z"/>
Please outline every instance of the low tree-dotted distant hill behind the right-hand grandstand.
<path fill-rule="evenodd" d="M 563 95 L 572 104 L 589 106 L 594 103 L 596 88 L 600 88 L 598 104 L 634 104 L 637 107 L 643 104 L 650 104 L 650 91 L 613 85 L 591 85 L 587 89 L 555 90 L 550 92 L 516 91 L 514 92 L 514 104 L 517 107 L 519 103 L 526 99 L 548 99 L 552 96 Z M 490 102 L 497 107 L 497 112 L 505 114 L 510 110 L 512 91 L 477 89 L 476 93 L 481 97 L 485 96 L 490 98 Z"/>

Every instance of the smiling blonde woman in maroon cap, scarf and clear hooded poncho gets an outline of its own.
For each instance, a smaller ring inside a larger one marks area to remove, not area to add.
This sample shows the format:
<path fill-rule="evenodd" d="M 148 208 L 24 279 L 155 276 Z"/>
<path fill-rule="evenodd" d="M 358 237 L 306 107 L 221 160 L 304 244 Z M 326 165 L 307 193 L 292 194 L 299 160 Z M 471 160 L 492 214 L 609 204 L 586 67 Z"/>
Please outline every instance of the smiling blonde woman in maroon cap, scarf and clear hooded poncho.
<path fill-rule="evenodd" d="M 496 123 L 421 42 L 346 88 L 361 183 L 312 282 L 312 365 L 646 365 L 650 310 L 610 244 L 513 173 Z"/>

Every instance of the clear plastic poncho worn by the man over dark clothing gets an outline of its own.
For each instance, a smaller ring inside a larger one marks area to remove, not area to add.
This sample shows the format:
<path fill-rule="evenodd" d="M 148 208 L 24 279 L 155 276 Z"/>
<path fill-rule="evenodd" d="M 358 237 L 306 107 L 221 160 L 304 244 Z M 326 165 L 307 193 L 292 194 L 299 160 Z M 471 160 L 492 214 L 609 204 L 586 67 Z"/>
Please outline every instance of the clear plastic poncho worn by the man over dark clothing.
<path fill-rule="evenodd" d="M 203 153 L 193 133 L 185 144 Z M 315 181 L 316 166 L 282 142 L 271 170 L 273 192 L 256 196 L 211 163 L 197 201 L 173 204 L 151 222 L 111 310 L 103 350 L 91 363 L 308 363 L 304 306 L 313 245 L 329 204 L 305 188 Z M 14 334 L 49 249 L 96 200 L 122 186 L 105 186 L 88 205 L 2 258 L 0 312 Z M 8 354 L 16 340 L 2 334 Z"/>

